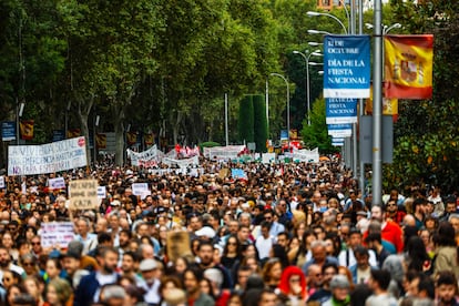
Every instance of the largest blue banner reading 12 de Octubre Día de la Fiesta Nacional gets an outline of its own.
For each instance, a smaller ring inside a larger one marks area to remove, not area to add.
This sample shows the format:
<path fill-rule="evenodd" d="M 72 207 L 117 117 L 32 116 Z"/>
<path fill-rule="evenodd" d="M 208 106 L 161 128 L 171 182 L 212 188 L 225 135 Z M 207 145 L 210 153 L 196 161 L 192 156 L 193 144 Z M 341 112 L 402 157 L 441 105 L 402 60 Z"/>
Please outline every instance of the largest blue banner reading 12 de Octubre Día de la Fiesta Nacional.
<path fill-rule="evenodd" d="M 370 68 L 369 35 L 326 35 L 324 98 L 369 98 Z"/>

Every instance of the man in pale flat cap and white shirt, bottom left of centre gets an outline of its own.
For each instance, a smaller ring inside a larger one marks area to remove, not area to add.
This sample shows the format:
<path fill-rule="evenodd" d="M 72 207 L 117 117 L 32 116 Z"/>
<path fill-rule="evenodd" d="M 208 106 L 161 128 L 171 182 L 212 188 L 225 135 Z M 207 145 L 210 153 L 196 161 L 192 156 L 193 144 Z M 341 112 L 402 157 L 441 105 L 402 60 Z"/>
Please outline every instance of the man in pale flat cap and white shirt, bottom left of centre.
<path fill-rule="evenodd" d="M 161 302 L 160 296 L 160 285 L 161 282 L 156 279 L 156 269 L 159 268 L 157 262 L 152 258 L 143 259 L 139 266 L 140 272 L 142 273 L 143 282 L 140 284 L 145 294 L 143 298 L 146 303 L 157 305 Z"/>

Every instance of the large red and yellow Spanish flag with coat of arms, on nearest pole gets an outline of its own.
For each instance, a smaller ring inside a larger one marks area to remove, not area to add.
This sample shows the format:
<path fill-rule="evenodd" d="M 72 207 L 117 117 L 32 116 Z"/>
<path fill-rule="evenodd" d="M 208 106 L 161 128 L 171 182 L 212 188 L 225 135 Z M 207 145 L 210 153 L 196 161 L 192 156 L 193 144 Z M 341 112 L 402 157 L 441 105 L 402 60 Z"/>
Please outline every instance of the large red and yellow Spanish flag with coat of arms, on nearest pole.
<path fill-rule="evenodd" d="M 386 98 L 432 96 L 434 35 L 386 35 Z"/>

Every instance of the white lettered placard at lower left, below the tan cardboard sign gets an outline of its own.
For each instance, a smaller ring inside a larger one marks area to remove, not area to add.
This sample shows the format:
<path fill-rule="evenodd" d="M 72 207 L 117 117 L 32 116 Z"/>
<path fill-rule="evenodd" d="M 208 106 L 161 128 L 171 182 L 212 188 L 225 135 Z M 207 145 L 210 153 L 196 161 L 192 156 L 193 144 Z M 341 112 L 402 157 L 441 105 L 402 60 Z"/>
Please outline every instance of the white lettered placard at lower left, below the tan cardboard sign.
<path fill-rule="evenodd" d="M 75 237 L 72 222 L 51 222 L 41 224 L 41 246 L 67 248 Z"/>

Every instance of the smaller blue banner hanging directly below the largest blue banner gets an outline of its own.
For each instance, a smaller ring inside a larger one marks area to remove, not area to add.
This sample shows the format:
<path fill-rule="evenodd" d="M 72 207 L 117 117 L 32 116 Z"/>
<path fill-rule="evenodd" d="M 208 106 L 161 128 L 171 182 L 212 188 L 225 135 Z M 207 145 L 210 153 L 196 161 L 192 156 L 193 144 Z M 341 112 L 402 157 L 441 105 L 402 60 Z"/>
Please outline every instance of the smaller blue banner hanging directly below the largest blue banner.
<path fill-rule="evenodd" d="M 327 124 L 357 123 L 357 99 L 325 99 L 325 118 Z"/>

